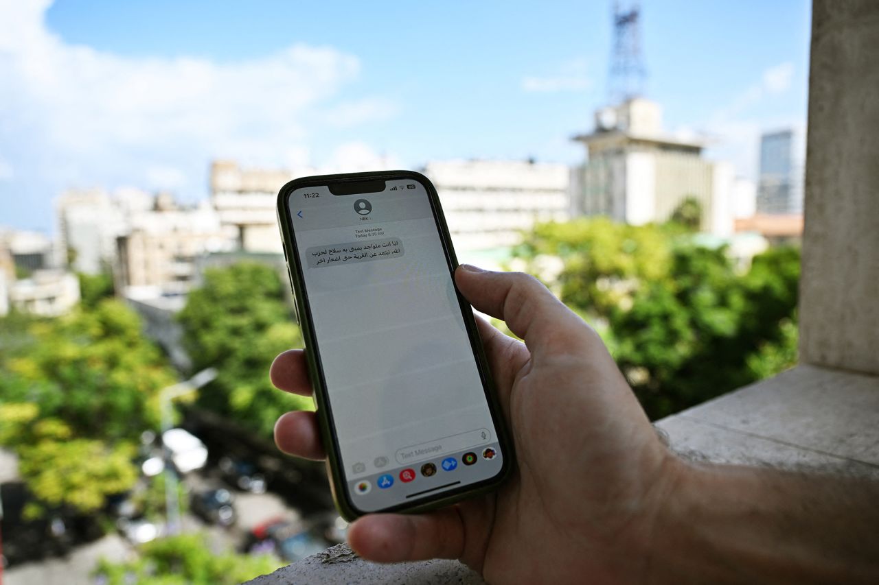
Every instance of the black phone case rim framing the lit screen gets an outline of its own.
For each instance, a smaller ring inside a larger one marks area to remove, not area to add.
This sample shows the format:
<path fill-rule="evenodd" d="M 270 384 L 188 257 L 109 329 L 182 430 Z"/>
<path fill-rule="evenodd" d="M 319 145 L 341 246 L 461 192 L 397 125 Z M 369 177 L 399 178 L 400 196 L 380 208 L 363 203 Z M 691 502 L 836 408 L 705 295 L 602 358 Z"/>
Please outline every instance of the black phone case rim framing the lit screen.
<path fill-rule="evenodd" d="M 424 185 L 425 191 L 427 191 L 428 198 L 430 199 L 434 218 L 437 222 L 440 241 L 442 242 L 447 258 L 449 271 L 454 272 L 454 269 L 458 266 L 458 261 L 454 255 L 452 239 L 448 232 L 446 219 L 443 216 L 441 206 L 439 206 L 439 196 L 430 180 L 420 173 L 410 170 L 389 170 L 302 177 L 285 184 L 281 187 L 278 193 L 278 224 L 280 226 L 281 238 L 283 240 L 284 256 L 287 260 L 287 274 L 290 278 L 290 284 L 293 286 L 296 318 L 299 321 L 302 339 L 305 342 L 305 357 L 309 368 L 309 379 L 311 380 L 311 386 L 315 395 L 318 426 L 327 453 L 327 469 L 331 479 L 333 501 L 336 502 L 336 506 L 342 517 L 349 522 L 354 518 L 363 516 L 365 512 L 357 509 L 348 499 L 345 490 L 345 473 L 342 470 L 339 460 L 338 440 L 332 421 L 331 406 L 327 396 L 323 372 L 318 363 L 316 352 L 310 349 L 316 348 L 316 338 L 308 307 L 308 297 L 305 293 L 305 284 L 300 277 L 302 268 L 299 261 L 298 251 L 296 249 L 293 227 L 291 225 L 288 195 L 292 191 L 309 186 L 334 184 L 339 182 L 357 182 L 376 179 L 395 180 L 406 178 L 415 180 Z M 498 431 L 498 442 L 501 444 L 502 452 L 504 453 L 504 463 L 501 472 L 494 478 L 483 480 L 476 484 L 470 484 L 460 489 L 444 492 L 428 502 L 401 504 L 390 509 L 381 510 L 382 512 L 414 513 L 438 509 L 475 495 L 488 493 L 495 488 L 498 488 L 498 486 L 509 477 L 510 473 L 512 473 L 512 462 L 515 460 L 512 441 L 510 440 L 509 432 L 506 429 L 506 424 L 498 402 L 497 389 L 494 385 L 494 380 L 491 378 L 488 360 L 485 358 L 483 343 L 479 337 L 478 329 L 476 329 L 476 321 L 473 316 L 472 308 L 461 296 L 461 293 L 457 292 L 457 288 L 455 288 L 455 292 L 457 293 L 458 302 L 461 305 L 461 313 L 463 314 L 464 323 L 468 330 L 470 343 L 475 348 L 476 361 L 479 366 L 480 375 L 483 379 L 483 386 L 488 389 L 488 392 L 486 392 L 487 400 L 489 401 L 491 417 L 495 424 L 495 429 Z"/>

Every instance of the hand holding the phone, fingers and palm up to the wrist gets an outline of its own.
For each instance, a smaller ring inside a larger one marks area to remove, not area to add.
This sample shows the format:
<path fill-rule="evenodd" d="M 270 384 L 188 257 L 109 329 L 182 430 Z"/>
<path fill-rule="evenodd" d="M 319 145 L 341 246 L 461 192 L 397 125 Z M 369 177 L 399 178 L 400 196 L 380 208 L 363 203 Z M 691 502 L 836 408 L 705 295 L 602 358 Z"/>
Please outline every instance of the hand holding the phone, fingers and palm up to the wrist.
<path fill-rule="evenodd" d="M 368 560 L 460 559 L 492 582 L 640 579 L 657 512 L 684 466 L 659 441 L 599 336 L 536 279 L 455 271 L 479 311 L 506 321 L 516 341 L 479 319 L 498 397 L 516 446 L 496 493 L 421 515 L 373 514 L 348 540 Z M 301 350 L 272 364 L 282 390 L 311 394 Z M 316 415 L 275 426 L 282 451 L 323 459 Z"/>

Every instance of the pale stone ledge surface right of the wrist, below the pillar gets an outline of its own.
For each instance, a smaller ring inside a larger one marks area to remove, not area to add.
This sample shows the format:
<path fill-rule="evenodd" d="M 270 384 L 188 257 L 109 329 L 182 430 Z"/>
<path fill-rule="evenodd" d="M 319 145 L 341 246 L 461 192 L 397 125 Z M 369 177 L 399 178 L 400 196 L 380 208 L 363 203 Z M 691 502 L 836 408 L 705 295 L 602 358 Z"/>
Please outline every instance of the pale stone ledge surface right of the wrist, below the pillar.
<path fill-rule="evenodd" d="M 879 477 L 879 378 L 801 365 L 657 423 L 672 448 L 723 463 Z"/>

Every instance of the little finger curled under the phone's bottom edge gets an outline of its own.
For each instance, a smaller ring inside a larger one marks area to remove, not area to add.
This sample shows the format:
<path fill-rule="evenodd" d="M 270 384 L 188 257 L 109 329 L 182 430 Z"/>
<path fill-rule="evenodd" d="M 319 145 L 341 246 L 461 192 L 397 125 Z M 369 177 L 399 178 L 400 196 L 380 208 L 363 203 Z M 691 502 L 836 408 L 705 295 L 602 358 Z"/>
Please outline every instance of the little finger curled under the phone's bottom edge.
<path fill-rule="evenodd" d="M 362 558 L 381 563 L 458 559 L 464 524 L 456 508 L 418 516 L 372 514 L 351 525 L 348 544 Z"/>

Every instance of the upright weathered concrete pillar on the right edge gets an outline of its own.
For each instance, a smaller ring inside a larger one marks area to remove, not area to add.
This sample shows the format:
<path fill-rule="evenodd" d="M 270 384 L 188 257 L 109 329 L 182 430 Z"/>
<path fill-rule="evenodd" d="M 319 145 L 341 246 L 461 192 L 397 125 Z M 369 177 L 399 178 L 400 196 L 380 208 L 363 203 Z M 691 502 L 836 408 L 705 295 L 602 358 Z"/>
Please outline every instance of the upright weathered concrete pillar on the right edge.
<path fill-rule="evenodd" d="M 879 2 L 816 0 L 802 363 L 879 374 Z"/>

